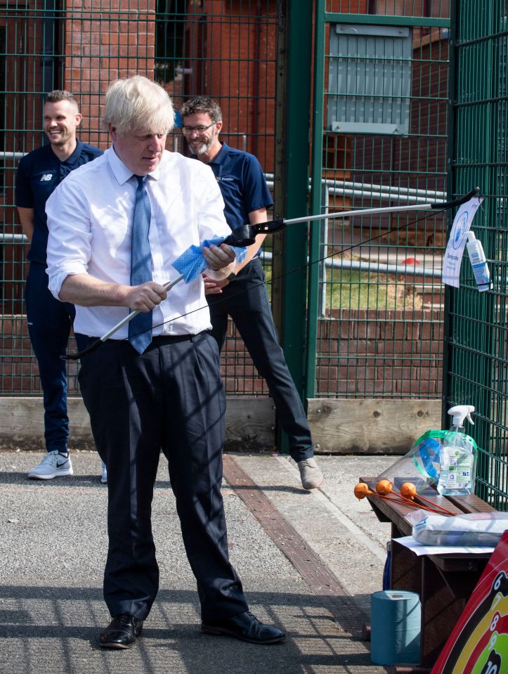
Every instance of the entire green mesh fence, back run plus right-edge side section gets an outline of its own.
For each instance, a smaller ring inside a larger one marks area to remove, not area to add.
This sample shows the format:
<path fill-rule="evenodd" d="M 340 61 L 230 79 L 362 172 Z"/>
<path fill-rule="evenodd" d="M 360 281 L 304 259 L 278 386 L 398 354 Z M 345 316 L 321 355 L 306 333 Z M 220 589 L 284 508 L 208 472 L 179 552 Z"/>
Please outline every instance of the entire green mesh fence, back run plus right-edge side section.
<path fill-rule="evenodd" d="M 40 393 L 23 315 L 26 246 L 13 186 L 19 157 L 44 140 L 44 92 L 65 87 L 77 93 L 85 118 L 82 139 L 105 147 L 99 114 L 108 82 L 143 72 L 167 87 L 176 108 L 197 93 L 219 98 L 226 118 L 223 138 L 259 156 L 273 185 L 275 215 L 304 215 L 309 188 L 311 212 L 325 213 L 437 201 L 449 191 L 457 195 L 481 187 L 487 198 L 474 227 L 495 288 L 480 296 L 464 265 L 460 290 L 450 292 L 444 331 L 440 276 L 448 223 L 439 214 L 328 221 L 310 228 L 308 241 L 305 228 L 295 229 L 282 245 L 275 240 L 274 260 L 283 259 L 282 273 L 305 264 L 307 254 L 313 263 L 307 320 L 298 309 L 305 271 L 290 281 L 275 272 L 274 304 L 285 319 L 283 343 L 292 369 L 303 373 L 297 383 L 304 396 L 439 400 L 445 395 L 447 403 L 474 404 L 482 495 L 503 506 L 506 2 L 452 3 L 457 31 L 450 53 L 455 21 L 446 0 L 302 0 L 298 10 L 295 5 L 287 0 L 2 5 L 0 394 Z M 305 41 L 295 44 L 302 34 Z M 180 134 L 171 136 L 168 146 L 185 151 Z M 223 375 L 229 394 L 267 393 L 233 328 Z M 77 393 L 75 378 L 71 369 L 71 393 Z"/>

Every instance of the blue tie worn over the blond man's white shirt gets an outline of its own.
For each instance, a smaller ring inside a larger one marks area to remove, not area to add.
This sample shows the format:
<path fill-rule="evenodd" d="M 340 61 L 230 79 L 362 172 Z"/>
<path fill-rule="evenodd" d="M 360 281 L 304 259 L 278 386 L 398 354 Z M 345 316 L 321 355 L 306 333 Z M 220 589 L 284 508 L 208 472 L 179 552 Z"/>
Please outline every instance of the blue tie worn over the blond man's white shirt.
<path fill-rule="evenodd" d="M 152 280 L 150 231 L 150 199 L 146 191 L 146 176 L 135 176 L 138 181 L 131 238 L 131 285 Z M 138 313 L 129 323 L 129 342 L 138 354 L 143 354 L 152 341 L 152 312 Z"/>

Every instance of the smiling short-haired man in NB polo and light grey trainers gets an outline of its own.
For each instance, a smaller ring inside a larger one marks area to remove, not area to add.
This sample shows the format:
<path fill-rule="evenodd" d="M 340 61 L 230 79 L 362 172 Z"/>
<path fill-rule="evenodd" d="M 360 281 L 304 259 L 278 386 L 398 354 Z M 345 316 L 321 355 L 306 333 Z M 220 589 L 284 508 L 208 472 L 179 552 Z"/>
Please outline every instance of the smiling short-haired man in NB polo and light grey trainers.
<path fill-rule="evenodd" d="M 30 242 L 25 304 L 28 332 L 39 364 L 44 396 L 46 456 L 32 468 L 28 477 L 51 480 L 72 475 L 67 451 L 67 376 L 65 361 L 60 356 L 67 349 L 76 310 L 69 302 L 58 302 L 48 290 L 46 200 L 70 171 L 96 159 L 102 155 L 102 150 L 77 139 L 82 115 L 69 91 L 56 89 L 48 93 L 43 115 L 44 133 L 49 143 L 22 157 L 16 176 L 16 206 L 23 232 Z M 76 340 L 80 348 L 78 335 Z M 104 464 L 100 481 L 108 481 Z"/>

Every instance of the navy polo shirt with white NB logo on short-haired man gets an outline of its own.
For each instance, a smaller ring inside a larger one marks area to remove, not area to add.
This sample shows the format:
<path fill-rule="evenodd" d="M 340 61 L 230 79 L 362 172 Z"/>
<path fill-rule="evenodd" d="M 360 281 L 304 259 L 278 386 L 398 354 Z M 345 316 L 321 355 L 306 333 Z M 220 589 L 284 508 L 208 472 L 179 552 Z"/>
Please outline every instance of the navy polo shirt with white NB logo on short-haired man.
<path fill-rule="evenodd" d="M 46 266 L 46 201 L 49 195 L 70 171 L 100 157 L 102 153 L 99 148 L 77 141 L 76 149 L 65 162 L 60 162 L 51 145 L 43 145 L 20 160 L 16 175 L 16 206 L 34 209 L 34 235 L 28 252 L 30 262 Z"/>

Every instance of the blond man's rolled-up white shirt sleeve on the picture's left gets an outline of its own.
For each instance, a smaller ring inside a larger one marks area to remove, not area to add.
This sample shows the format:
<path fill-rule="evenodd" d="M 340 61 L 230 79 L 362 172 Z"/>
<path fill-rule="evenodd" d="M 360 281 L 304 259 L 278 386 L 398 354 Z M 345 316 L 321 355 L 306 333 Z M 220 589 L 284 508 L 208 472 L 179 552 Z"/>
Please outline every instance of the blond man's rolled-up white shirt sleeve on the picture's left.
<path fill-rule="evenodd" d="M 88 272 L 91 257 L 89 200 L 79 183 L 67 176 L 46 202 L 49 290 L 60 299 L 67 276 Z"/>

